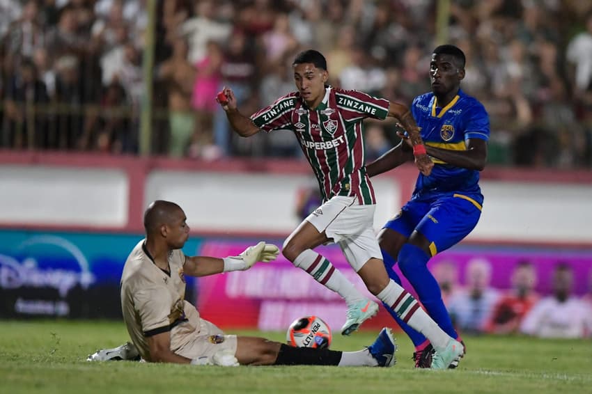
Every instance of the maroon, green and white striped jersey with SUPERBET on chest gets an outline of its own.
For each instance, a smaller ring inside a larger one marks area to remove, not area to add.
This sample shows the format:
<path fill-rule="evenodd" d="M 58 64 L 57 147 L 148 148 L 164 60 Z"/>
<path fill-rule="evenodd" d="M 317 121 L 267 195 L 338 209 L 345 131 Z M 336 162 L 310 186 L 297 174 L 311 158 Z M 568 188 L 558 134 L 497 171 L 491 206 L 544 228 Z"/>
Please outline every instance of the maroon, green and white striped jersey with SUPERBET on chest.
<path fill-rule="evenodd" d="M 316 109 L 306 107 L 293 92 L 254 113 L 251 120 L 265 132 L 289 129 L 296 134 L 325 200 L 355 196 L 359 204 L 375 204 L 364 167 L 362 120 L 383 120 L 388 113 L 389 100 L 328 86 Z"/>

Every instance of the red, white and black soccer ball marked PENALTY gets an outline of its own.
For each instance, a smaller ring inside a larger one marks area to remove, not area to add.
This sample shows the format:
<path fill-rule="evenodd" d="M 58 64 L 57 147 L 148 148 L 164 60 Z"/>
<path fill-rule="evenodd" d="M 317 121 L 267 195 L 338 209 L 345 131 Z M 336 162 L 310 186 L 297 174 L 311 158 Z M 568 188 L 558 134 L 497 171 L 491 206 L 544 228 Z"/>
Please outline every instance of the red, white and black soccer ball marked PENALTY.
<path fill-rule="evenodd" d="M 293 347 L 328 348 L 331 345 L 331 329 L 320 317 L 300 317 L 288 327 L 286 341 Z"/>

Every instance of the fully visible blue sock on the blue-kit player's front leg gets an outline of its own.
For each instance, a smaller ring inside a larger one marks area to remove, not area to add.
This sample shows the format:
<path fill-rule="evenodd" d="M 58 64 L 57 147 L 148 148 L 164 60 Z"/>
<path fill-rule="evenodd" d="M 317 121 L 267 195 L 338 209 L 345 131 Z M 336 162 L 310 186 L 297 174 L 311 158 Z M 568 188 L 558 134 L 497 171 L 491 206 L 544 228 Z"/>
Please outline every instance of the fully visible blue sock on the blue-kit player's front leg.
<path fill-rule="evenodd" d="M 415 289 L 423 308 L 444 332 L 457 338 L 458 334 L 442 301 L 440 286 L 428 269 L 428 260 L 430 256 L 412 244 L 404 244 L 398 255 L 399 269 Z"/>

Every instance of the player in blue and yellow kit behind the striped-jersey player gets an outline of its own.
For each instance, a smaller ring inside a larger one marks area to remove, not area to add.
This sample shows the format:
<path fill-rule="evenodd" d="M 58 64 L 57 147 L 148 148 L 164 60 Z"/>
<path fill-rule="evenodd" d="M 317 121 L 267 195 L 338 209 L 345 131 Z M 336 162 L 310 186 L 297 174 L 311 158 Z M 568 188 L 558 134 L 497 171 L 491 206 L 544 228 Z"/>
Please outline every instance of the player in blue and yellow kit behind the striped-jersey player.
<path fill-rule="evenodd" d="M 483 104 L 460 89 L 465 77 L 465 54 L 453 45 L 434 49 L 430 61 L 432 92 L 415 97 L 412 114 L 424 146 L 412 148 L 407 136 L 395 148 L 366 166 L 373 176 L 406 161 L 425 148 L 434 161 L 429 176 L 419 174 L 411 199 L 379 234 L 380 249 L 389 276 L 398 263 L 430 317 L 460 341 L 442 301 L 442 293 L 427 267 L 428 260 L 465 238 L 481 216 L 483 195 L 479 171 L 485 167 L 489 118 Z M 391 310 L 387 308 L 389 312 Z M 417 368 L 429 368 L 433 347 L 419 332 L 391 313 L 415 345 Z M 464 345 L 464 344 L 463 344 Z M 458 359 L 450 366 L 458 365 Z"/>

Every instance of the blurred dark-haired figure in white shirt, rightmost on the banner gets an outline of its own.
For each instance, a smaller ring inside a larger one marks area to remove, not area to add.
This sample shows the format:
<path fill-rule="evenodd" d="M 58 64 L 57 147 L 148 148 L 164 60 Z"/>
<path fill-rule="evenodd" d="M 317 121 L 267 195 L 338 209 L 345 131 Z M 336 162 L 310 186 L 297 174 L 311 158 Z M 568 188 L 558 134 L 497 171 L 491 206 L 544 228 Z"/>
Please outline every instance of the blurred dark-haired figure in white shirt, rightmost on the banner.
<path fill-rule="evenodd" d="M 584 301 L 572 296 L 572 269 L 556 265 L 553 294 L 538 301 L 524 317 L 520 331 L 540 338 L 584 338 L 592 332 L 592 315 Z"/>

